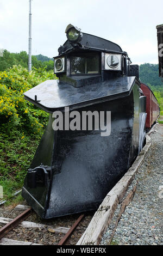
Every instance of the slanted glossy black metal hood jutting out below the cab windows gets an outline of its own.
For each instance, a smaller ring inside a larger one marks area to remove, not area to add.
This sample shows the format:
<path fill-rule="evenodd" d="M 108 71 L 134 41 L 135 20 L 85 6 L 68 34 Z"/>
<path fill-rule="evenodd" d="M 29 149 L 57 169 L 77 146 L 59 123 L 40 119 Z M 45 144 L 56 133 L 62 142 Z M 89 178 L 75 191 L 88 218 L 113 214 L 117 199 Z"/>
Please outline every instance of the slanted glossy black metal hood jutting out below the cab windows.
<path fill-rule="evenodd" d="M 57 80 L 47 80 L 24 93 L 27 100 L 36 106 L 52 113 L 89 106 L 95 103 L 128 96 L 134 86 L 135 77 L 118 77 L 90 86 L 75 88 L 68 83 L 58 83 Z M 36 102 L 35 95 L 37 95 Z"/>

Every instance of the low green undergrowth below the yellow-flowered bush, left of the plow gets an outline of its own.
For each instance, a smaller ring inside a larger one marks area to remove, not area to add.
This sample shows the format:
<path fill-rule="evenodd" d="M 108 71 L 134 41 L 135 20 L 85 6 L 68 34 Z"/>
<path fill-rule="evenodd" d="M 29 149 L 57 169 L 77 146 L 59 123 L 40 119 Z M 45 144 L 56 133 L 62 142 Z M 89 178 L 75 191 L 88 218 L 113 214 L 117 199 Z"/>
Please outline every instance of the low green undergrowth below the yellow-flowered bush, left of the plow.
<path fill-rule="evenodd" d="M 3 200 L 7 205 L 22 202 L 21 194 L 12 197 L 17 190 L 23 186 L 27 169 L 32 162 L 37 145 L 40 142 L 40 135 L 32 138 L 25 135 L 21 139 L 20 131 L 14 135 L 5 137 L 0 134 L 0 185 L 3 186 Z"/>

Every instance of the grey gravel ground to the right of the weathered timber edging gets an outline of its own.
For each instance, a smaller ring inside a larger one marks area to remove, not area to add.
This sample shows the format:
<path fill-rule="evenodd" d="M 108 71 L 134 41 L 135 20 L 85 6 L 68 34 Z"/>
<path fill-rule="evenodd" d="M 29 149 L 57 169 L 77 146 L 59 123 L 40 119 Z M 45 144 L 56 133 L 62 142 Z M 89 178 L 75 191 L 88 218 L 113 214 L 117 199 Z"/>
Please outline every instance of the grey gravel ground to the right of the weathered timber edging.
<path fill-rule="evenodd" d="M 151 147 L 128 190 L 137 184 L 135 196 L 122 214 L 111 239 L 121 208 L 118 205 L 101 245 L 163 245 L 163 125 L 156 125 L 150 137 Z"/>

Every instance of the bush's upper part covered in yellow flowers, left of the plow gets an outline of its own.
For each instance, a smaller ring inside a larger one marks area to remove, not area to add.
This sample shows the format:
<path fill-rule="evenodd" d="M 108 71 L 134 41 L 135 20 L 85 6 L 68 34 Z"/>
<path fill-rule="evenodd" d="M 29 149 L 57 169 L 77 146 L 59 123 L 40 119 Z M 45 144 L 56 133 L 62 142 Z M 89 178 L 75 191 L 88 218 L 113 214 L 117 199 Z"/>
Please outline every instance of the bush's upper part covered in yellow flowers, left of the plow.
<path fill-rule="evenodd" d="M 45 70 L 28 72 L 21 66 L 0 72 L 1 131 L 9 134 L 14 129 L 35 135 L 42 130 L 48 114 L 24 100 L 23 93 L 49 79 L 54 79 L 54 75 Z"/>

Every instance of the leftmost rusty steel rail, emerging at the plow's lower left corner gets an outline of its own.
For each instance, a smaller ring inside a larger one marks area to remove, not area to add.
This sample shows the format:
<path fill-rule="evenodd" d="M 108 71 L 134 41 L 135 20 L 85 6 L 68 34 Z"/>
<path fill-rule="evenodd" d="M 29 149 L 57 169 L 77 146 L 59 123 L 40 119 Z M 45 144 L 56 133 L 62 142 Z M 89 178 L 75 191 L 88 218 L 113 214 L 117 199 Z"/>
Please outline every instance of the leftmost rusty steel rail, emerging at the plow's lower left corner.
<path fill-rule="evenodd" d="M 5 236 L 10 230 L 15 228 L 22 221 L 24 221 L 31 214 L 32 214 L 32 208 L 29 208 L 26 211 L 23 211 L 20 215 L 18 215 L 16 218 L 10 221 L 8 224 L 4 225 L 4 227 L 0 229 L 0 239 L 3 236 Z"/>

